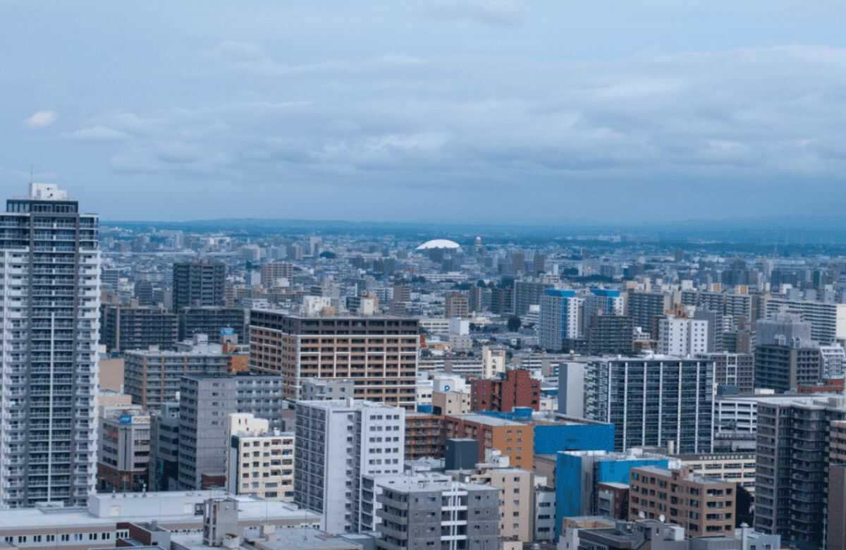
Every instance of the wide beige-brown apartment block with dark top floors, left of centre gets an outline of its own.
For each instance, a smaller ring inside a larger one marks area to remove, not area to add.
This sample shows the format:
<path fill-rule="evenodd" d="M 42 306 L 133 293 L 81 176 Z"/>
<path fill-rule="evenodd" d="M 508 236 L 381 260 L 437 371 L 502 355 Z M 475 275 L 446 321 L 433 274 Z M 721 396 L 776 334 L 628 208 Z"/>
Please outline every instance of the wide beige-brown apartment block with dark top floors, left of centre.
<path fill-rule="evenodd" d="M 348 378 L 356 399 L 413 410 L 419 346 L 416 319 L 250 313 L 250 370 L 283 377 L 290 399 L 306 378 Z"/>

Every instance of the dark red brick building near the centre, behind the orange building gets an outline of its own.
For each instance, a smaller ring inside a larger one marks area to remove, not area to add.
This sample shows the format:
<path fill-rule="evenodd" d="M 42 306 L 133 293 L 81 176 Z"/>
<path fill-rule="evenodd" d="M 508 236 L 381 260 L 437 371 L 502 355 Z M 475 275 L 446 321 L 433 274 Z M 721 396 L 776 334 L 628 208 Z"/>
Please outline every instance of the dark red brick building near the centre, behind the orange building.
<path fill-rule="evenodd" d="M 541 381 L 530 371 L 514 369 L 500 378 L 470 381 L 471 410 L 512 412 L 514 407 L 541 410 Z"/>

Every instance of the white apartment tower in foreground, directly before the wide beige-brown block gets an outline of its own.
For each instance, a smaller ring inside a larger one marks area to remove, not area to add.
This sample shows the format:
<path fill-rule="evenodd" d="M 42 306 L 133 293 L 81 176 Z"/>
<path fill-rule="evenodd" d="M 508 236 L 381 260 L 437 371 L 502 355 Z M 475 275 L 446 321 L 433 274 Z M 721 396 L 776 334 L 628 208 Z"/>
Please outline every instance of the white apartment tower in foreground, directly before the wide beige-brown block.
<path fill-rule="evenodd" d="M 294 503 L 322 515 L 321 529 L 359 532 L 361 476 L 401 474 L 405 410 L 371 401 L 298 401 Z"/>

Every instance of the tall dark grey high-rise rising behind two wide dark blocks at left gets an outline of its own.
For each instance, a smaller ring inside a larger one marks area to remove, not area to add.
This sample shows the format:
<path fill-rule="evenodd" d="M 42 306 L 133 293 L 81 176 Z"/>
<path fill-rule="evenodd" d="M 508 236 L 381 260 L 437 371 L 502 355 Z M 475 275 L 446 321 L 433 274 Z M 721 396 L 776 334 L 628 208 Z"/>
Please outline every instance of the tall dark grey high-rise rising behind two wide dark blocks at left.
<path fill-rule="evenodd" d="M 224 305 L 226 265 L 219 260 L 177 261 L 173 264 L 173 311 L 197 305 Z"/>

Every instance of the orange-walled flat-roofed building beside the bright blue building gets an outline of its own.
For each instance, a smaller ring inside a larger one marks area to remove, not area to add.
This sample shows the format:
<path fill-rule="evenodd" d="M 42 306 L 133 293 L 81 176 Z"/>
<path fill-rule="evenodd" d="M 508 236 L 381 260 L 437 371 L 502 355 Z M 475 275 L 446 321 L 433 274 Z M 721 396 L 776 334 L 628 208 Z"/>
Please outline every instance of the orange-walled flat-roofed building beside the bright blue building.
<path fill-rule="evenodd" d="M 452 415 L 443 419 L 446 437 L 467 437 L 479 442 L 479 461 L 485 451 L 496 448 L 508 456 L 514 468 L 534 470 L 535 428 L 529 424 L 488 415 Z"/>

